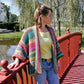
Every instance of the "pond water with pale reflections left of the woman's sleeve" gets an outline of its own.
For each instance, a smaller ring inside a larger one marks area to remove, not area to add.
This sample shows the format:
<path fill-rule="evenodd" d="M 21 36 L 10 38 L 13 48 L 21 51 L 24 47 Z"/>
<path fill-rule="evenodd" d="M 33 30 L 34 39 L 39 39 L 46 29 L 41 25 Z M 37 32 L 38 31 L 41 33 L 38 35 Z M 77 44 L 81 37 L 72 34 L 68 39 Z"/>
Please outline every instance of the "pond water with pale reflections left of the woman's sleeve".
<path fill-rule="evenodd" d="M 3 59 L 7 59 L 9 63 L 14 61 L 12 55 L 15 52 L 19 40 L 20 39 L 0 39 L 0 61 Z"/>

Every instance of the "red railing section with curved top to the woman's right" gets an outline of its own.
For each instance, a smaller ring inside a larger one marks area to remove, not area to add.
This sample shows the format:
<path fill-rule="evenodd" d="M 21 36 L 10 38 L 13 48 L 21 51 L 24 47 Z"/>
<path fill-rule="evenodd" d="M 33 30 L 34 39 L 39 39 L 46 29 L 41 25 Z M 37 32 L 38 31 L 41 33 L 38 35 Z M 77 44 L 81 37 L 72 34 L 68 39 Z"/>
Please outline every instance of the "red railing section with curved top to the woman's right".
<path fill-rule="evenodd" d="M 59 71 L 59 78 L 61 79 L 65 71 L 73 62 L 73 60 L 81 52 L 82 32 L 70 33 L 69 31 L 67 31 L 65 35 L 57 39 L 58 39 L 60 48 L 64 54 L 64 57 L 59 59 L 60 65 L 61 65 L 61 69 Z"/>

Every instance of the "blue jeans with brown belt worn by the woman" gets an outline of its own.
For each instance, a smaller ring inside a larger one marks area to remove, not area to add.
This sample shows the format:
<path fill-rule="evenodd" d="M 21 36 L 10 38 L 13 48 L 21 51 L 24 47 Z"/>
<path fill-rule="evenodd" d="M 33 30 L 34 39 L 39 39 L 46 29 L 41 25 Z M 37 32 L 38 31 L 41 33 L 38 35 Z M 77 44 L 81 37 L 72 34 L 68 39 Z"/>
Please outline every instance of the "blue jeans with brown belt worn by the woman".
<path fill-rule="evenodd" d="M 48 84 L 59 84 L 58 74 L 54 72 L 53 63 L 43 61 L 42 64 L 43 73 L 34 76 L 36 84 L 46 84 L 46 80 Z"/>

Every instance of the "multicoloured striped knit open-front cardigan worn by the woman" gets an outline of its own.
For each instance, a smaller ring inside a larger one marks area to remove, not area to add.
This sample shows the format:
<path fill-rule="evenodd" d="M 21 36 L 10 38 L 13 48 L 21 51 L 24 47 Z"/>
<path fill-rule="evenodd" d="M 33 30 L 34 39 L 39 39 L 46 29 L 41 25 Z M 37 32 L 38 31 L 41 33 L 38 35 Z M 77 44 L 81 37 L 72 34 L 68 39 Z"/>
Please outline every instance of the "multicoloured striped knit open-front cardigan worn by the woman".
<path fill-rule="evenodd" d="M 47 26 L 47 29 L 51 35 L 53 42 L 51 51 L 52 51 L 54 70 L 57 73 L 58 72 L 57 61 L 59 58 L 61 58 L 64 55 L 60 50 L 53 28 Z M 35 73 L 36 72 L 38 72 L 39 74 L 42 73 L 42 59 L 40 56 L 39 36 L 38 36 L 38 30 L 35 26 L 32 28 L 28 28 L 24 32 L 15 50 L 15 53 L 13 54 L 13 59 L 15 59 L 15 57 L 19 58 L 21 61 L 25 61 L 26 59 L 29 59 L 30 64 L 35 65 L 34 66 Z"/>

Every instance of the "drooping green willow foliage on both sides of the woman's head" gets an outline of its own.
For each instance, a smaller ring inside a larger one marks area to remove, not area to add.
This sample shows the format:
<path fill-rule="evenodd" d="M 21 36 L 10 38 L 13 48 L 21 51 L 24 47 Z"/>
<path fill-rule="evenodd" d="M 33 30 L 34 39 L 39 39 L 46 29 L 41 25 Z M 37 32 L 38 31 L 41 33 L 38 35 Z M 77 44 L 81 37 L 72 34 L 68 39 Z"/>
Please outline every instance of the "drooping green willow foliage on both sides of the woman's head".
<path fill-rule="evenodd" d="M 81 7 L 80 0 L 15 0 L 20 9 L 20 28 L 34 25 L 34 11 L 39 4 L 46 4 L 53 9 L 52 25 L 59 28 L 58 22 L 63 21 L 64 26 L 72 28 L 78 26 Z M 83 22 L 83 20 L 82 20 Z M 84 23 L 84 22 L 83 22 Z M 83 24 L 82 23 L 82 24 Z M 57 24 L 57 25 L 56 25 Z"/>

